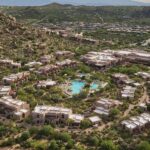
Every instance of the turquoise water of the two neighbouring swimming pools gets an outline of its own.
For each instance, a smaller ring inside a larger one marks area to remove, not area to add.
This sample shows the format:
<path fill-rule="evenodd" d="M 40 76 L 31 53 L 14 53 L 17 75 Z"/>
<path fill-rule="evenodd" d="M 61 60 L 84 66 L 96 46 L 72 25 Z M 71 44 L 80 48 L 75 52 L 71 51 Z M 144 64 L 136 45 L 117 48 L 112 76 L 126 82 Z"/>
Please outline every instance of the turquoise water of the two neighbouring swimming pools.
<path fill-rule="evenodd" d="M 72 81 L 71 82 L 71 93 L 74 95 L 74 94 L 79 94 L 82 89 L 84 88 L 86 82 L 84 81 L 78 81 L 78 80 L 75 80 L 75 81 Z M 92 83 L 91 86 L 90 86 L 90 89 L 91 90 L 96 90 L 98 89 L 99 85 L 96 84 L 96 83 Z"/>

